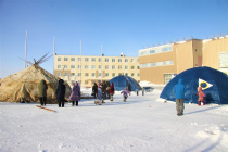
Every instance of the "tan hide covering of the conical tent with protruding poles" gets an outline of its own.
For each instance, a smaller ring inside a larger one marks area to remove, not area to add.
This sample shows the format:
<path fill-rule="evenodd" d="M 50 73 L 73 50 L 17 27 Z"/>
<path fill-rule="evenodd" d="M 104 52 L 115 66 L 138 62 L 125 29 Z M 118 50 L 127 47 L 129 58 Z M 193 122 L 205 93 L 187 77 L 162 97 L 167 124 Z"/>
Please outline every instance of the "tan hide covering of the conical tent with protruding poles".
<path fill-rule="evenodd" d="M 39 102 L 38 85 L 40 80 L 46 80 L 48 85 L 47 103 L 56 103 L 55 90 L 59 84 L 58 77 L 45 71 L 37 64 L 10 75 L 0 80 L 0 101 L 1 102 Z M 65 97 L 68 98 L 72 90 L 65 83 Z"/>

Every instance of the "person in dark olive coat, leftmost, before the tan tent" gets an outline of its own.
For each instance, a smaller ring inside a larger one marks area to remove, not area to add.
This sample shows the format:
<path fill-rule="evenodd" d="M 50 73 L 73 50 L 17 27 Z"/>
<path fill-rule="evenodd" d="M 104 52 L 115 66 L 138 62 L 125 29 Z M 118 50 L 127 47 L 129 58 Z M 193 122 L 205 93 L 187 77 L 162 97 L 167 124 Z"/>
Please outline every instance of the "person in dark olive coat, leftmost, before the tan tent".
<path fill-rule="evenodd" d="M 48 90 L 48 86 L 46 84 L 46 80 L 42 79 L 38 86 L 38 97 L 39 97 L 39 101 L 40 101 L 40 105 L 46 105 L 47 104 L 47 90 Z"/>

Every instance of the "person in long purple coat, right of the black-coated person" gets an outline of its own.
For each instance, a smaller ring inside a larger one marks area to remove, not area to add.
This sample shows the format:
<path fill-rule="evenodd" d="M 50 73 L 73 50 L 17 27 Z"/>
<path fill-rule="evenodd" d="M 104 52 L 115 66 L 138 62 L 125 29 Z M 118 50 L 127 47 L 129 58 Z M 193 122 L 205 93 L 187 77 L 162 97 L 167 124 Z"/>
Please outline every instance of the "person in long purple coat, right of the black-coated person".
<path fill-rule="evenodd" d="M 69 100 L 72 101 L 72 106 L 75 105 L 78 106 L 78 101 L 80 101 L 80 86 L 78 86 L 78 83 L 75 83 L 75 86 L 72 89 L 72 94 L 69 97 Z"/>

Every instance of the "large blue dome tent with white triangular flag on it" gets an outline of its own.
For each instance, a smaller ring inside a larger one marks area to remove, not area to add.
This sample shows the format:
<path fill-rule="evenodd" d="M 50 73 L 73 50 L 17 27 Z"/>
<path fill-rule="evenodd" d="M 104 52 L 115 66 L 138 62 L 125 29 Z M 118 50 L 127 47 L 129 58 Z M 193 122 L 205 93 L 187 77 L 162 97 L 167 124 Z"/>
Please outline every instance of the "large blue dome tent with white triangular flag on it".
<path fill-rule="evenodd" d="M 175 101 L 174 86 L 178 79 L 186 86 L 185 103 L 198 103 L 197 89 L 202 87 L 205 102 L 228 104 L 228 76 L 211 67 L 194 67 L 187 69 L 174 77 L 163 89 L 160 98 Z"/>

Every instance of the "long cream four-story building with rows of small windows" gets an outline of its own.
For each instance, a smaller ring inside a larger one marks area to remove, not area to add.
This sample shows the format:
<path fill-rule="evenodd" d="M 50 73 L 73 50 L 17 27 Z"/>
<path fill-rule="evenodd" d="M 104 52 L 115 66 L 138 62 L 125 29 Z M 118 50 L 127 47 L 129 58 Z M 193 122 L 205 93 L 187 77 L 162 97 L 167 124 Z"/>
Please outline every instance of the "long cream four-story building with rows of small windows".
<path fill-rule="evenodd" d="M 54 75 L 71 86 L 78 81 L 84 87 L 93 83 L 110 80 L 118 75 L 127 75 L 140 80 L 138 58 L 134 56 L 88 56 L 54 55 Z"/>

